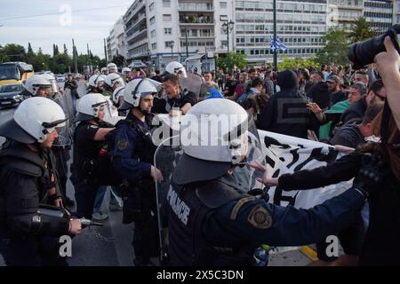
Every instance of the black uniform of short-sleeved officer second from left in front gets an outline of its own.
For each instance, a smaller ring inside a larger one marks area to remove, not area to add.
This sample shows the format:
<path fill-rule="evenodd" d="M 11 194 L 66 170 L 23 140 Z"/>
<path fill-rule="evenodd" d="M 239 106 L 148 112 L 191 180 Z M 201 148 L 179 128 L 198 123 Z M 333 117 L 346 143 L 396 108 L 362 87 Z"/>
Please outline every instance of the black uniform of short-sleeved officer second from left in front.
<path fill-rule="evenodd" d="M 100 141 L 94 136 L 100 125 L 88 121 L 80 122 L 74 133 L 73 164 L 70 180 L 75 187 L 77 217 L 92 218 L 96 193 L 100 183 L 95 178 Z"/>

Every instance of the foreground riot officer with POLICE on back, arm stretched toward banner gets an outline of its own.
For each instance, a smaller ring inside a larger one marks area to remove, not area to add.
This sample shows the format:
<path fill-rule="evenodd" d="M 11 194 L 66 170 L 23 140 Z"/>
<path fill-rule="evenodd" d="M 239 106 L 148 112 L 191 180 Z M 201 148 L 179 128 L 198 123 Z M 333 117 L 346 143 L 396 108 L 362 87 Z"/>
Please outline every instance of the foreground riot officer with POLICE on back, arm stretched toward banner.
<path fill-rule="evenodd" d="M 367 194 L 356 188 L 313 209 L 257 199 L 249 194 L 253 185 L 246 165 L 261 159 L 262 152 L 244 109 L 227 99 L 208 99 L 193 106 L 181 125 L 198 125 L 196 120 L 201 131 L 195 127 L 181 136 L 183 154 L 166 194 L 172 265 L 250 265 L 261 244 L 320 241 L 351 224 L 363 207 Z M 213 132 L 206 127 L 216 120 L 226 124 L 214 132 L 212 144 L 207 135 Z"/>

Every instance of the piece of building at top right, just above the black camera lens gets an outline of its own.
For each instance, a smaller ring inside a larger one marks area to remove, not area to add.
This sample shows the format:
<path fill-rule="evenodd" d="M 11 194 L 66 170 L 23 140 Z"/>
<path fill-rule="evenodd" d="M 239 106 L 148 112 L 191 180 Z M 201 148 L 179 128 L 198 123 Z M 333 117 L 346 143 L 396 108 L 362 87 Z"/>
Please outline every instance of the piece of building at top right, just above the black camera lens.
<path fill-rule="evenodd" d="M 364 0 L 364 17 L 379 32 L 385 32 L 393 23 L 393 1 Z"/>

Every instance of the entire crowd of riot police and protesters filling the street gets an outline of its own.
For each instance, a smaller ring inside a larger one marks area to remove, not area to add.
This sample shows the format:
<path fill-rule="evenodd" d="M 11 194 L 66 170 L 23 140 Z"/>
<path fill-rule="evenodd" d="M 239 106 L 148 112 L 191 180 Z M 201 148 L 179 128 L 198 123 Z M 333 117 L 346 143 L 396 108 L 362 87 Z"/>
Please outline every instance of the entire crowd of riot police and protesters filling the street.
<path fill-rule="evenodd" d="M 319 70 L 204 72 L 196 75 L 201 80 L 195 77 L 196 90 L 182 83 L 188 74 L 179 62 L 171 62 L 163 75 L 157 70 L 148 75 L 140 68 L 118 73 L 110 63 L 88 78 L 84 96 L 72 76 L 64 85 L 67 92 L 61 92 L 53 89 L 51 78 L 33 75 L 25 83 L 32 98 L 0 127 L 0 136 L 7 138 L 0 152 L 0 252 L 6 264 L 67 264 L 57 254 L 57 238 L 81 233 L 79 218 L 107 219 L 100 205 L 108 186 L 110 206 L 123 209 L 124 224 L 135 225 L 134 264 L 152 264 L 163 244 L 156 183 L 170 178 L 165 264 L 251 265 L 254 249 L 265 243 L 317 243 L 317 264 L 400 264 L 399 57 L 390 41 L 385 45 L 387 51 L 377 56 L 376 65 L 365 70 L 331 64 Z M 57 94 L 75 101 L 69 177 L 75 189 L 73 218 L 40 213 L 45 203 L 70 214 L 68 170 L 62 174 L 58 167 L 68 160 L 70 148 L 63 149 L 60 159 L 53 143 L 57 129 L 71 117 L 54 102 Z M 228 146 L 204 145 L 204 133 L 196 133 L 202 143 L 182 146 L 183 154 L 168 177 L 154 164 L 155 114 L 183 121 L 190 115 L 218 114 L 246 119 L 230 123 L 228 132 L 217 132 Z M 122 119 L 111 122 L 118 116 Z M 238 131 L 243 125 L 244 133 Z M 323 141 L 346 155 L 321 168 L 270 177 L 251 158 L 258 150 L 252 148 L 250 137 L 258 137 L 257 132 L 249 136 L 252 126 Z M 106 170 L 101 154 L 108 162 Z M 246 177 L 243 165 L 259 170 L 263 184 L 287 191 L 354 181 L 345 193 L 315 208 L 294 209 L 244 192 L 237 182 Z M 365 204 L 366 223 L 361 217 Z M 325 254 L 324 240 L 330 234 L 337 234 L 344 248 L 339 258 Z"/>

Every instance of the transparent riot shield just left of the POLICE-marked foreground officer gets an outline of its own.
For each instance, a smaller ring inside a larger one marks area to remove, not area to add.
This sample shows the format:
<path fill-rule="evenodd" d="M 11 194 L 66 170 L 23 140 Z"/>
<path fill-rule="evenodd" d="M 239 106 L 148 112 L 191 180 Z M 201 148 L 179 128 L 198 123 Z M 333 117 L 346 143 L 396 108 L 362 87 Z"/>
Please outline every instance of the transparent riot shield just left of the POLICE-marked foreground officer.
<path fill-rule="evenodd" d="M 156 183 L 156 201 L 157 201 L 157 217 L 160 239 L 160 261 L 166 264 L 168 260 L 168 210 L 167 194 L 170 190 L 172 182 L 172 172 L 175 169 L 180 156 L 183 154 L 181 146 L 173 146 L 176 139 L 174 136 L 164 140 L 157 147 L 154 156 L 154 163 L 158 170 L 161 170 L 164 180 L 161 183 Z"/>

